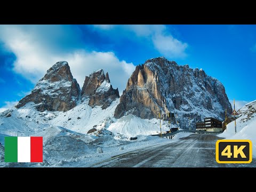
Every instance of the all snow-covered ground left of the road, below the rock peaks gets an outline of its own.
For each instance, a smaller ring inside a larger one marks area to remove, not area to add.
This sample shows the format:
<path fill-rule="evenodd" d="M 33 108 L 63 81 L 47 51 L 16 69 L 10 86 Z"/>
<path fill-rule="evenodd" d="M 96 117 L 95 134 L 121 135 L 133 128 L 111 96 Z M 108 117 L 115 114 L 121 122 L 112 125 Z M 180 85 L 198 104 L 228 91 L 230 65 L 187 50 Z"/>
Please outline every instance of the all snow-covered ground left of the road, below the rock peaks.
<path fill-rule="evenodd" d="M 87 102 L 79 103 L 66 112 L 39 112 L 34 109 L 33 103 L 27 103 L 19 109 L 12 108 L 1 113 L 0 167 L 91 166 L 113 155 L 174 141 L 146 136 L 159 132 L 159 119 L 147 120 L 129 115 L 116 120 L 113 115 L 118 99 L 104 110 L 100 106 L 92 108 Z M 6 117 L 9 113 L 11 116 Z M 97 131 L 85 134 L 93 126 Z M 162 127 L 163 131 L 168 130 L 166 122 Z M 4 137 L 17 136 L 18 131 L 19 136 L 43 137 L 43 163 L 4 162 Z M 135 135 L 138 140 L 127 138 Z M 119 149 L 121 146 L 123 150 Z M 103 149 L 103 154 L 96 153 L 98 147 Z"/>

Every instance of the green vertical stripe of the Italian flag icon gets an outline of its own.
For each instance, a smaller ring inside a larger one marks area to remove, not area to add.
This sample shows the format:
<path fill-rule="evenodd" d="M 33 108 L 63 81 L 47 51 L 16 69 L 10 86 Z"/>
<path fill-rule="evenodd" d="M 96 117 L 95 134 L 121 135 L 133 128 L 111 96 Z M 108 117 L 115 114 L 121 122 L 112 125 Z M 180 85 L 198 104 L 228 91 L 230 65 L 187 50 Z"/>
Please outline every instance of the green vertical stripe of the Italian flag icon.
<path fill-rule="evenodd" d="M 18 162 L 18 137 L 5 137 L 4 150 L 4 162 Z"/>

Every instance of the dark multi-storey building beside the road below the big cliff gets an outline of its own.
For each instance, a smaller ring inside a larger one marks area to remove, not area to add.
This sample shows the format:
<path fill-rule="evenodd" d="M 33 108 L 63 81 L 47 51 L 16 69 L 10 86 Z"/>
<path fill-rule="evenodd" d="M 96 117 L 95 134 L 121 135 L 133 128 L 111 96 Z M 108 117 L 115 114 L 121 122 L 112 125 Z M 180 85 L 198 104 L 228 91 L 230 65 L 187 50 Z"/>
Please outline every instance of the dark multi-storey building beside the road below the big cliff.
<path fill-rule="evenodd" d="M 203 122 L 196 123 L 196 130 L 222 132 L 222 122 L 212 117 L 206 117 Z"/>

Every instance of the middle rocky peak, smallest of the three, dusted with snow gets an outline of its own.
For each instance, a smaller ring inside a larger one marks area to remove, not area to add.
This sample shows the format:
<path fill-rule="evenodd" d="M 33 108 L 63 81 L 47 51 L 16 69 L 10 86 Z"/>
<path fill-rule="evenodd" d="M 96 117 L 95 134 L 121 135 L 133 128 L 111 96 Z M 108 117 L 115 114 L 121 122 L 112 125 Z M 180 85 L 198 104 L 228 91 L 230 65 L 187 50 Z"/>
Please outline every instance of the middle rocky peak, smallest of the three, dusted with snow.
<path fill-rule="evenodd" d="M 85 77 L 81 95 L 82 98 L 89 98 L 90 106 L 101 106 L 102 109 L 106 109 L 112 101 L 119 98 L 118 89 L 113 89 L 108 73 L 105 76 L 102 69 Z"/>

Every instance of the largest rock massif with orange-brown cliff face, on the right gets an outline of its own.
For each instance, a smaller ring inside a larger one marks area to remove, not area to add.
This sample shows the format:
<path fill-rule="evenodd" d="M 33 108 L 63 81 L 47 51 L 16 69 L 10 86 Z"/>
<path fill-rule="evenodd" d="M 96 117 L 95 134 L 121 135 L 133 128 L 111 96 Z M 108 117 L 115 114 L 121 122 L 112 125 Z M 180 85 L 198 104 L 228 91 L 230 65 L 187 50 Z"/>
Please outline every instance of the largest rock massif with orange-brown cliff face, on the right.
<path fill-rule="evenodd" d="M 201 69 L 179 66 L 163 57 L 147 60 L 136 67 L 115 110 L 115 117 L 133 114 L 143 119 L 159 113 L 175 113 L 183 129 L 204 117 L 225 118 L 231 105 L 224 86 Z M 192 127 L 194 129 L 194 127 Z"/>

